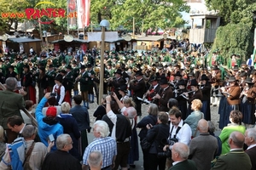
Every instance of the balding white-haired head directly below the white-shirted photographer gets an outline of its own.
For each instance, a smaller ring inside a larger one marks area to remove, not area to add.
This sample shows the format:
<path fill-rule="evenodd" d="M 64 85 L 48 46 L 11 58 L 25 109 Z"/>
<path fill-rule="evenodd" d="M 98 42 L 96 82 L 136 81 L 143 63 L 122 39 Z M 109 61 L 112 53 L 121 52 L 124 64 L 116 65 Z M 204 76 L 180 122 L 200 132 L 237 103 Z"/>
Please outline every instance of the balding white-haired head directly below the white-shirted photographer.
<path fill-rule="evenodd" d="M 189 147 L 187 144 L 175 143 L 172 146 L 172 160 L 173 161 L 184 161 L 189 157 Z"/>

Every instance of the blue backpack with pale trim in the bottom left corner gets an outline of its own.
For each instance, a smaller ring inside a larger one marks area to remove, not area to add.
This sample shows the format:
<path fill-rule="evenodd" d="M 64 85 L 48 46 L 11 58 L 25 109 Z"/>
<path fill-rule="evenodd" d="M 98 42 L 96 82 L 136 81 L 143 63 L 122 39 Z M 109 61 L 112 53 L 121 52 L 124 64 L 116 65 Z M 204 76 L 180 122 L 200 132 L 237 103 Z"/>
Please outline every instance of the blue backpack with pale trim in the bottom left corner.
<path fill-rule="evenodd" d="M 23 170 L 23 162 L 26 157 L 26 141 L 19 137 L 12 144 L 8 144 L 10 166 L 12 169 Z"/>

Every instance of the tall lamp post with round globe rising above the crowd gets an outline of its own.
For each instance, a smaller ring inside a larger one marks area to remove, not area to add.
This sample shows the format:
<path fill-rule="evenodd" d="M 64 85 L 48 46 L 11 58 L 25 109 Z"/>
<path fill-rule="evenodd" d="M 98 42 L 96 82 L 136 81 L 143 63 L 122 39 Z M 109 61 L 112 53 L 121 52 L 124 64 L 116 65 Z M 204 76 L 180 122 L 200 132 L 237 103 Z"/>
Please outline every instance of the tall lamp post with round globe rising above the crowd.
<path fill-rule="evenodd" d="M 105 48 L 105 28 L 109 27 L 108 20 L 102 20 L 100 23 L 102 26 L 102 47 L 101 47 L 101 72 L 100 72 L 100 87 L 99 87 L 99 99 L 98 104 L 101 104 L 102 95 L 103 95 L 103 79 L 104 79 L 104 48 Z"/>

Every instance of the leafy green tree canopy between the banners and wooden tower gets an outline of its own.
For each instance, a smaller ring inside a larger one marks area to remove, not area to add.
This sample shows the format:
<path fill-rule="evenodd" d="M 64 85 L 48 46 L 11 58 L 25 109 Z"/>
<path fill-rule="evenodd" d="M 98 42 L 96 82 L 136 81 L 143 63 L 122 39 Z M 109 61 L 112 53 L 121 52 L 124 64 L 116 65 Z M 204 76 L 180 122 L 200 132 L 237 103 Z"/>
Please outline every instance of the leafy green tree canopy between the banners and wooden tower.
<path fill-rule="evenodd" d="M 148 28 L 165 29 L 166 27 L 184 24 L 180 12 L 189 11 L 189 6 L 183 0 L 95 0 L 91 2 L 91 20 L 99 23 L 100 20 L 110 21 L 115 30 L 120 26 L 125 30 L 132 30 L 133 17 L 137 31 Z"/>

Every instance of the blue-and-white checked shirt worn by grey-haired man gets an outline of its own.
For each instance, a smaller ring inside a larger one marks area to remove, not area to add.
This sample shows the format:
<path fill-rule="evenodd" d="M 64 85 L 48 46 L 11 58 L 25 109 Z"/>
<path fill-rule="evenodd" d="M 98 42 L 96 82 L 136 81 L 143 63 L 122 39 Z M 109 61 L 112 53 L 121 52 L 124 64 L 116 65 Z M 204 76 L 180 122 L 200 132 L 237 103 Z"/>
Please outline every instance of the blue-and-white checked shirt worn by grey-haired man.
<path fill-rule="evenodd" d="M 91 142 L 84 151 L 83 164 L 88 165 L 88 157 L 91 151 L 98 150 L 102 153 L 102 168 L 112 165 L 113 156 L 117 155 L 116 141 L 111 137 L 97 138 Z"/>

